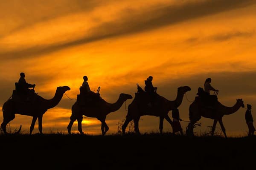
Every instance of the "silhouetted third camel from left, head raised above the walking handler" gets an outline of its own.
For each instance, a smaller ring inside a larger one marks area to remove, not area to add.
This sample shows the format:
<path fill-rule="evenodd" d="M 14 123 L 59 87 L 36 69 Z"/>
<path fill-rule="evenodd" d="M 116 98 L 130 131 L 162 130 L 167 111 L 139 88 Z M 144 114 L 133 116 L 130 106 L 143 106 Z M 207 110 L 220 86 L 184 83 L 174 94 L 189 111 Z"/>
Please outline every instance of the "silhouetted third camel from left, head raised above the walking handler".
<path fill-rule="evenodd" d="M 168 116 L 169 111 L 173 110 L 174 108 L 178 108 L 181 105 L 183 100 L 183 96 L 187 91 L 190 91 L 191 88 L 189 86 L 181 86 L 177 89 L 177 97 L 175 100 L 170 101 L 163 96 L 158 95 L 157 101 L 158 104 L 151 106 L 148 105 L 148 96 L 145 91 L 138 86 L 138 91 L 135 93 L 135 98 L 128 106 L 128 113 L 125 119 L 124 124 L 122 125 L 122 134 L 125 134 L 125 129 L 129 122 L 134 120 L 134 130 L 137 134 L 140 134 L 139 130 L 139 120 L 140 116 L 150 115 L 150 116 L 159 116 L 160 125 L 159 130 L 160 133 L 163 133 L 163 119 L 166 119 L 167 122 L 172 124 L 172 120 Z"/>

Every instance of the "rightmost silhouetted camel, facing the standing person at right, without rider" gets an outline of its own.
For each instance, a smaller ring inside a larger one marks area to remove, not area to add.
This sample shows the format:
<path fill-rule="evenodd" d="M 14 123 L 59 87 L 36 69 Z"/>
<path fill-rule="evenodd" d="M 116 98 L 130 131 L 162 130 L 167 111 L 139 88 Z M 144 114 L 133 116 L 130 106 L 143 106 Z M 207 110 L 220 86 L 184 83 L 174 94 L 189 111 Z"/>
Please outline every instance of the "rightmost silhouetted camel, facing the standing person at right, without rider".
<path fill-rule="evenodd" d="M 201 116 L 209 119 L 213 119 L 212 135 L 214 134 L 217 122 L 221 125 L 221 130 L 227 138 L 226 130 L 222 122 L 224 115 L 230 115 L 239 110 L 240 107 L 244 108 L 244 102 L 242 99 L 236 99 L 235 105 L 227 107 L 216 101 L 216 104 L 212 107 L 205 107 L 202 103 L 200 96 L 195 97 L 195 101 L 189 106 L 189 119 L 190 122 L 187 126 L 186 133 L 188 136 L 194 136 L 193 127 L 195 122 L 201 119 Z"/>

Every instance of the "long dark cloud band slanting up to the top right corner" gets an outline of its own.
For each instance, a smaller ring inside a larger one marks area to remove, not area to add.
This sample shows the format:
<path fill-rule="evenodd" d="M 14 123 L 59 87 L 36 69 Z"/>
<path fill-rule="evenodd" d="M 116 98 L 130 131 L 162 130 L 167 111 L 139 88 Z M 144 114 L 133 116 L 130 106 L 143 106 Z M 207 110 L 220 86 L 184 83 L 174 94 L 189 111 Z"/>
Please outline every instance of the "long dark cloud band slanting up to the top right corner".
<path fill-rule="evenodd" d="M 84 37 L 79 39 L 57 43 L 54 45 L 34 46 L 16 51 L 1 52 L 0 58 L 14 59 L 22 57 L 35 57 L 76 45 L 81 45 L 106 38 L 135 34 L 149 31 L 155 28 L 172 25 L 210 14 L 243 8 L 255 4 L 254 0 L 205 0 L 184 3 L 183 5 L 155 5 L 144 11 L 131 11 L 130 14 L 120 14 L 120 18 L 114 21 L 102 23 L 90 28 Z M 241 36 L 241 33 L 212 37 L 215 40 L 224 40 L 232 36 Z"/>

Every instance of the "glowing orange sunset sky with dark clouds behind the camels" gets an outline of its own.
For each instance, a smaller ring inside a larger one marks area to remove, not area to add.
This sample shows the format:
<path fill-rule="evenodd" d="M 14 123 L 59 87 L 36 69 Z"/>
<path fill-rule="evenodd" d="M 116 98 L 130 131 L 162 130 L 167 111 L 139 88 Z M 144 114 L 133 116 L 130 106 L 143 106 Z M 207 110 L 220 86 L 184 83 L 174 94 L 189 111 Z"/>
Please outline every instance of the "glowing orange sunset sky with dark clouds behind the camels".
<path fill-rule="evenodd" d="M 153 76 L 157 93 L 174 100 L 187 85 L 189 101 L 206 78 L 219 90 L 218 100 L 233 106 L 236 99 L 252 105 L 256 119 L 256 0 L 1 0 L 0 108 L 12 95 L 20 72 L 51 99 L 58 86 L 71 88 L 76 99 L 84 75 L 91 90 L 113 103 L 120 93 L 137 92 Z M 189 120 L 186 97 L 180 118 Z M 126 107 L 132 102 L 129 99 Z M 43 116 L 43 132 L 67 133 L 73 100 L 61 102 Z M 247 135 L 245 109 L 223 117 L 227 136 Z M 107 116 L 108 134 L 125 119 L 125 104 Z M 171 117 L 171 112 L 169 113 Z M 29 132 L 32 117 L 16 114 L 11 128 Z M 3 122 L 3 116 L 0 116 Z M 213 120 L 202 118 L 197 133 Z M 84 133 L 101 134 L 96 118 L 84 117 Z M 181 122 L 186 129 L 187 122 Z M 157 132 L 159 118 L 142 116 L 142 133 Z M 220 125 L 217 124 L 217 131 Z M 164 121 L 164 132 L 172 127 Z M 72 127 L 77 132 L 77 122 Z M 33 133 L 38 133 L 36 122 Z"/>

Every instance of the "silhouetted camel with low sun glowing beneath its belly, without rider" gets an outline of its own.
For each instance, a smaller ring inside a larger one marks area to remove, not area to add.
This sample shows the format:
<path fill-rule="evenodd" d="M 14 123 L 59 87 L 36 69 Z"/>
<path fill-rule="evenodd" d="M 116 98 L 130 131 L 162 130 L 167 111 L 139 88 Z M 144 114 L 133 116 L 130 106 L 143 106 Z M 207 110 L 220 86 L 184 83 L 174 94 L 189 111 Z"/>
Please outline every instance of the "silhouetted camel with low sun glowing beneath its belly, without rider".
<path fill-rule="evenodd" d="M 109 130 L 108 125 L 106 124 L 105 120 L 109 113 L 117 111 L 121 108 L 122 104 L 127 100 L 132 99 L 130 94 L 123 94 L 119 95 L 119 98 L 115 103 L 108 103 L 104 99 L 99 99 L 96 103 L 79 105 L 79 102 L 75 102 L 72 106 L 72 113 L 70 116 L 70 123 L 67 126 L 67 131 L 71 134 L 71 127 L 73 123 L 77 120 L 78 123 L 78 131 L 81 134 L 84 134 L 82 131 L 82 120 L 83 115 L 87 117 L 97 118 L 101 122 L 101 130 L 102 135 L 105 135 Z"/>

